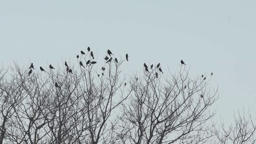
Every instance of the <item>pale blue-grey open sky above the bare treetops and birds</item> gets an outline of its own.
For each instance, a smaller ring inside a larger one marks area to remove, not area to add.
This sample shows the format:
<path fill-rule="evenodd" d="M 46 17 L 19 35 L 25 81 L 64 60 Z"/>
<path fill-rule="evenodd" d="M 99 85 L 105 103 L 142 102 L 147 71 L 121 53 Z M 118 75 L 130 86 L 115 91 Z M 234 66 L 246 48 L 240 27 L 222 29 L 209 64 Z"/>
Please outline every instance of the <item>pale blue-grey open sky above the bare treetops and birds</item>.
<path fill-rule="evenodd" d="M 0 62 L 63 67 L 88 46 L 97 60 L 128 53 L 141 74 L 144 62 L 167 74 L 183 60 L 191 78 L 213 72 L 215 118 L 230 119 L 256 112 L 255 14 L 255 0 L 0 0 Z"/>

